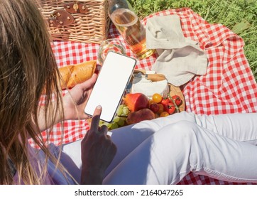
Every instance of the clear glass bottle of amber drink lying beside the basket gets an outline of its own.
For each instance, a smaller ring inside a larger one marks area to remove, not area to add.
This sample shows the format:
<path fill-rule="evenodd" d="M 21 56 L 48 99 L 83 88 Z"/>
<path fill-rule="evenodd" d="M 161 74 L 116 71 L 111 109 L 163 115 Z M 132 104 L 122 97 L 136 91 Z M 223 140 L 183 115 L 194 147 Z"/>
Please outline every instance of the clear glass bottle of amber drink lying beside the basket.
<path fill-rule="evenodd" d="M 128 47 L 138 59 L 148 58 L 155 50 L 146 49 L 146 28 L 126 0 L 108 0 L 108 14 Z"/>

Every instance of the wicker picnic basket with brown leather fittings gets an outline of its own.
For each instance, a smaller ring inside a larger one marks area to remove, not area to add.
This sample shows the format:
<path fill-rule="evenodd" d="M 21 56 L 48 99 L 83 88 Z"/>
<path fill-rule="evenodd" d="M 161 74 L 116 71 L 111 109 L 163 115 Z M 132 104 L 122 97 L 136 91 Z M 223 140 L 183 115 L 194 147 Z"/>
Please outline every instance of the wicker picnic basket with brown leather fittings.
<path fill-rule="evenodd" d="M 53 40 L 101 43 L 108 37 L 107 0 L 40 0 Z"/>

